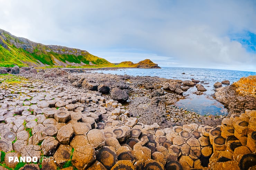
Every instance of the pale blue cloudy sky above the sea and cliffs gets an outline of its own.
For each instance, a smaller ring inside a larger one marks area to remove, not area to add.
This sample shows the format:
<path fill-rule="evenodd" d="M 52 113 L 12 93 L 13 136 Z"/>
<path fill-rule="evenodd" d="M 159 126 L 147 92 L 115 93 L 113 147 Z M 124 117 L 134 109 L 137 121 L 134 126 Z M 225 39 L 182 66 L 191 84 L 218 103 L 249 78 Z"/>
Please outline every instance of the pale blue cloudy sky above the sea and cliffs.
<path fill-rule="evenodd" d="M 0 0 L 0 29 L 110 62 L 256 72 L 255 0 Z"/>

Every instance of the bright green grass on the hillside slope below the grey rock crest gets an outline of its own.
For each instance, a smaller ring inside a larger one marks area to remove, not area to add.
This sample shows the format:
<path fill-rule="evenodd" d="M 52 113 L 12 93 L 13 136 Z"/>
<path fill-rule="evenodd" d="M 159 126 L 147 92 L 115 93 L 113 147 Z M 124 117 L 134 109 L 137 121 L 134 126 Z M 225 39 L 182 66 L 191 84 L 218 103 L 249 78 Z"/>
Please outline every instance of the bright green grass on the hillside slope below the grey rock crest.
<path fill-rule="evenodd" d="M 61 63 L 61 62 L 67 64 L 66 61 L 71 63 L 71 65 L 68 65 L 67 67 L 75 65 L 73 63 L 81 64 L 81 62 L 88 65 L 91 62 L 97 66 L 113 65 L 107 60 L 103 58 L 99 58 L 97 56 L 93 56 L 87 51 L 82 51 L 81 55 L 77 56 L 77 55 L 74 55 L 77 53 L 77 49 L 71 49 L 71 48 L 66 48 L 61 46 L 57 46 L 60 49 L 53 52 L 51 49 L 49 49 L 49 47 L 43 44 L 32 42 L 34 43 L 33 44 L 34 46 L 32 47 L 32 49 L 34 50 L 33 52 L 31 52 L 31 48 L 28 50 L 24 50 L 26 48 L 24 48 L 23 46 L 22 48 L 24 49 L 17 48 L 19 46 L 17 45 L 14 46 L 12 44 L 14 42 L 22 45 L 26 44 L 25 42 L 21 42 L 20 39 L 18 39 L 17 37 L 12 36 L 11 34 L 4 32 L 3 30 L 0 33 L 2 33 L 4 37 L 6 37 L 6 41 L 5 41 L 0 35 L 0 42 L 2 41 L 10 49 L 8 50 L 0 44 L 0 67 L 13 67 L 14 65 L 18 65 L 19 67 L 30 66 L 30 65 L 42 67 L 43 65 L 40 64 L 40 62 L 43 63 L 45 66 L 58 66 L 59 65 L 58 63 Z M 26 44 L 26 45 L 30 47 L 30 44 Z M 69 54 L 63 54 L 64 52 Z M 56 59 L 59 60 L 60 62 L 58 61 L 56 62 L 55 61 Z"/>

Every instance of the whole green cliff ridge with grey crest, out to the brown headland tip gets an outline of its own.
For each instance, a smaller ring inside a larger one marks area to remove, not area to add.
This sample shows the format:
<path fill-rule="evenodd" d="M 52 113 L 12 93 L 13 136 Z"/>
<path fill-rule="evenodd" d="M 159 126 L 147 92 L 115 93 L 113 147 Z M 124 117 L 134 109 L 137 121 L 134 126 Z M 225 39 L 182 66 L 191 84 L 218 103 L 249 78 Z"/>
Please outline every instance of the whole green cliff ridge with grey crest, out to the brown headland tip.
<path fill-rule="evenodd" d="M 132 62 L 131 62 L 132 63 Z M 121 63 L 120 63 L 121 64 Z M 26 38 L 13 36 L 0 29 L 0 67 L 18 66 L 63 66 L 63 67 L 117 67 L 106 59 L 88 51 L 56 45 L 44 45 Z M 152 68 L 157 64 L 144 60 L 139 63 L 123 63 L 122 67 Z"/>

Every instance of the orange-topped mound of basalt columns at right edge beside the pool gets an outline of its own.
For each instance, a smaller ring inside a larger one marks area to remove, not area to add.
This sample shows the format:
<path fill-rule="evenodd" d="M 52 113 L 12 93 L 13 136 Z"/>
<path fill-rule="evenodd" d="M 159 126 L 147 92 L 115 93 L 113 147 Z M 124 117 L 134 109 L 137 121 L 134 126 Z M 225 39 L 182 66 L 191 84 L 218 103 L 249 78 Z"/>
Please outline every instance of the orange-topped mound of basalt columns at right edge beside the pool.
<path fill-rule="evenodd" d="M 215 92 L 216 100 L 224 103 L 229 114 L 241 114 L 244 110 L 256 109 L 256 76 L 242 77 L 231 86 L 221 87 Z"/>

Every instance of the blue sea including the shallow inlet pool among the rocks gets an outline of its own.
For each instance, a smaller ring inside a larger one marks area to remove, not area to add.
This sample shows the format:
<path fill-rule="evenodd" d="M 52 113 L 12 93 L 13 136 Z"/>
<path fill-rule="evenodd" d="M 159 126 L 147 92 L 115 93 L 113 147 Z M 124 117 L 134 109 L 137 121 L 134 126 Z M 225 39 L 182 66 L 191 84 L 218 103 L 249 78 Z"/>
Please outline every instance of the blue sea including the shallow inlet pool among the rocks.
<path fill-rule="evenodd" d="M 193 110 L 201 115 L 204 114 L 226 114 L 227 109 L 223 104 L 213 99 L 214 93 L 213 84 L 217 81 L 229 80 L 230 84 L 238 81 L 241 77 L 256 75 L 256 72 L 234 71 L 234 70 L 219 70 L 219 69 L 202 69 L 202 68 L 176 68 L 163 67 L 162 69 L 117 69 L 117 70 L 97 70 L 92 72 L 102 72 L 110 74 L 130 76 L 157 76 L 166 79 L 178 80 L 195 80 L 204 81 L 203 86 L 207 89 L 203 95 L 196 95 L 192 92 L 197 91 L 196 87 L 190 88 L 184 92 L 186 99 L 179 100 L 175 103 L 176 106 Z M 185 74 L 182 74 L 185 73 Z M 222 85 L 225 86 L 225 85 Z"/>

